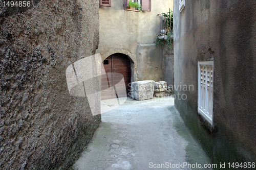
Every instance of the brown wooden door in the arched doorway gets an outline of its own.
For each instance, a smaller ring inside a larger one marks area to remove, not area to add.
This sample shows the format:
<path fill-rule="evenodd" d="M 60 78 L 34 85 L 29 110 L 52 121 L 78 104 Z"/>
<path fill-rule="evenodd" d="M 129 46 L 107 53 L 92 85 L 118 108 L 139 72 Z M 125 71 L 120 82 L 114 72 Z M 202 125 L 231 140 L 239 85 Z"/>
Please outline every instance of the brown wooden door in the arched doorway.
<path fill-rule="evenodd" d="M 101 91 L 101 100 L 116 98 L 116 92 L 113 87 L 117 83 L 113 77 L 116 72 L 122 74 L 124 78 L 127 95 L 130 90 L 129 83 L 131 83 L 131 60 L 121 53 L 110 55 L 103 61 L 101 71 L 103 72 L 104 70 L 107 75 L 111 76 L 101 76 L 101 89 L 108 89 Z M 115 88 L 119 87 L 115 86 Z M 118 98 L 126 95 L 118 96 Z"/>

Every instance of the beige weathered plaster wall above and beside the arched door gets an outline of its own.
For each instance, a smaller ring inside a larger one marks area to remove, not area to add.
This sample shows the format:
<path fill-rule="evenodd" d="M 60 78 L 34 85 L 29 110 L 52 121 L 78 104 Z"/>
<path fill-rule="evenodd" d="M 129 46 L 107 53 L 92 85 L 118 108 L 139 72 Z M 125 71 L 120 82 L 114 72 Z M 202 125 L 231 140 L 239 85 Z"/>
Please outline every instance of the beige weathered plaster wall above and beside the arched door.
<path fill-rule="evenodd" d="M 99 8 L 100 41 L 96 52 L 102 60 L 114 53 L 128 55 L 134 62 L 132 81 L 163 80 L 161 46 L 153 43 L 160 31 L 157 14 L 172 10 L 173 0 L 155 0 L 151 4 L 151 12 L 124 10 L 122 0 Z"/>

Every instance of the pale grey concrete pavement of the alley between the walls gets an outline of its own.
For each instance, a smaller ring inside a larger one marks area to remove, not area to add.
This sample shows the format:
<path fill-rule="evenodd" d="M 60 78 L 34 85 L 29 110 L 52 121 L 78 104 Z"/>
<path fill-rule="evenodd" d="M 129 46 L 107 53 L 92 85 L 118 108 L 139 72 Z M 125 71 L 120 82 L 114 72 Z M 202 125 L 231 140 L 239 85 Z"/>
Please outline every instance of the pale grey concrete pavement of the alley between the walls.
<path fill-rule="evenodd" d="M 115 106 L 114 100 L 101 102 L 103 110 Z M 210 163 L 184 126 L 171 97 L 127 99 L 101 116 L 102 123 L 74 169 L 170 169 L 172 164 L 176 167 L 171 169 L 190 169 L 183 162 L 202 167 Z M 157 166 L 162 168 L 154 168 Z"/>

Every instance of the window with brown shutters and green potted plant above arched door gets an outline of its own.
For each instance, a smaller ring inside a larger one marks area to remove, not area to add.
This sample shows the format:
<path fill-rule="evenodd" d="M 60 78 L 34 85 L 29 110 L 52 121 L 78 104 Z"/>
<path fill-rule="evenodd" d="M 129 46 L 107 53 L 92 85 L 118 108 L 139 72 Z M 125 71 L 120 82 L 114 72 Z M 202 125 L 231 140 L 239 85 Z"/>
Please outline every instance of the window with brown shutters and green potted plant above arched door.
<path fill-rule="evenodd" d="M 139 4 L 140 7 L 135 9 L 128 9 L 129 1 Z M 124 0 L 124 9 L 133 11 L 151 11 L 151 0 Z"/>

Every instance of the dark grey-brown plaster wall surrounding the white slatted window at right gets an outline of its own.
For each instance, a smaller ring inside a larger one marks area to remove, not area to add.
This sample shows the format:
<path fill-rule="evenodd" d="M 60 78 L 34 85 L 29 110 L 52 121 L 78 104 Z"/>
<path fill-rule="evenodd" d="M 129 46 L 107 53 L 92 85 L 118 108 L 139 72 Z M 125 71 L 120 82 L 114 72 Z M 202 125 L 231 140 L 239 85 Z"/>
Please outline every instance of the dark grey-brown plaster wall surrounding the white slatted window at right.
<path fill-rule="evenodd" d="M 175 100 L 187 126 L 217 162 L 256 161 L 256 2 L 174 3 Z M 214 60 L 214 131 L 197 113 L 198 61 Z"/>

